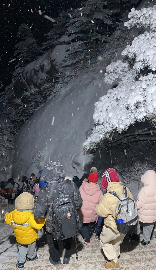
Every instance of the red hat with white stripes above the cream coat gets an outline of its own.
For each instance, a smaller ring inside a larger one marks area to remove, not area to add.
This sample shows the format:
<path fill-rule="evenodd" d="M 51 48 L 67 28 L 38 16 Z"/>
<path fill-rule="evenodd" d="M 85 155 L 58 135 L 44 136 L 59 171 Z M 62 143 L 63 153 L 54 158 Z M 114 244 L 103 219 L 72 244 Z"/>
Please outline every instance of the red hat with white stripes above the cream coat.
<path fill-rule="evenodd" d="M 109 182 L 119 182 L 119 176 L 113 168 L 109 168 L 103 173 L 101 181 L 102 188 L 106 189 Z"/>

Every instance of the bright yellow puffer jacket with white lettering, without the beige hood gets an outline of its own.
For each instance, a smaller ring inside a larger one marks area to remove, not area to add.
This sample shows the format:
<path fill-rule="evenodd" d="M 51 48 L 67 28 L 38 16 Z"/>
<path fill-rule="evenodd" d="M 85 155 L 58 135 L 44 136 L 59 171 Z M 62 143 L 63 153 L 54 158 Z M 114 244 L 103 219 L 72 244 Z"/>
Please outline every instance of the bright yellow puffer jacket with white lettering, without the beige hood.
<path fill-rule="evenodd" d="M 5 214 L 7 224 L 12 224 L 16 241 L 23 245 L 28 245 L 36 241 L 37 229 L 41 229 L 46 218 L 36 220 L 32 211 L 21 212 L 15 209 L 11 213 Z"/>

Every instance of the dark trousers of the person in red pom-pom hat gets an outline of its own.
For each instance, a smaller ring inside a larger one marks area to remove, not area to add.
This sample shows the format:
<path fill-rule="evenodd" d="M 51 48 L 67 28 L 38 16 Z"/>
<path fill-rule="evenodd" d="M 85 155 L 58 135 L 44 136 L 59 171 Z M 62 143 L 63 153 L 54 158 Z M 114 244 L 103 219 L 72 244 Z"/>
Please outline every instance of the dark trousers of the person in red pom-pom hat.
<path fill-rule="evenodd" d="M 95 231 L 95 223 L 96 221 L 83 223 L 81 227 L 81 233 L 85 242 L 90 242 L 90 237 L 93 235 L 93 232 Z"/>

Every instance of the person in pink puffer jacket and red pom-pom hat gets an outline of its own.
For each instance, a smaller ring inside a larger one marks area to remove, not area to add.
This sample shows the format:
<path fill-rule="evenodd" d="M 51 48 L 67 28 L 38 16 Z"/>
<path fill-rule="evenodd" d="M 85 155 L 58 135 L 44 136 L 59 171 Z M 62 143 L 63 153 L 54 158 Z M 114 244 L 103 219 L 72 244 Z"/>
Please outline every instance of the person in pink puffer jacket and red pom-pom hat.
<path fill-rule="evenodd" d="M 86 245 L 91 244 L 90 237 L 95 230 L 95 223 L 98 219 L 95 207 L 99 204 L 99 201 L 102 197 L 102 191 L 97 184 L 98 174 L 95 167 L 90 169 L 88 180 L 89 183 L 84 181 L 79 189 L 83 204 L 80 211 L 78 212 L 78 215 L 83 222 L 81 233 Z"/>

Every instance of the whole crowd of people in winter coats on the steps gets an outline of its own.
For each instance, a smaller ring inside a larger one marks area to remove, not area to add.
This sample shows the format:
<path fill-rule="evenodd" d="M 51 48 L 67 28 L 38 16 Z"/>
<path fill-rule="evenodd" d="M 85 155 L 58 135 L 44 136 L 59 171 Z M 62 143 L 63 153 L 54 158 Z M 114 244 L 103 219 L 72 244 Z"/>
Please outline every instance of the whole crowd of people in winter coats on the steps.
<path fill-rule="evenodd" d="M 13 186 L 16 197 L 15 210 L 6 214 L 6 222 L 12 224 L 18 245 L 16 267 L 22 268 L 26 260 L 35 261 L 39 258 L 36 248 L 37 229 L 41 229 L 44 224 L 51 264 L 61 264 L 58 241 L 63 240 L 63 263 L 66 264 L 71 256 L 71 236 L 81 232 L 84 244 L 89 246 L 95 232 L 107 258 L 105 268 L 120 267 L 120 244 L 126 233 L 131 229 L 130 237 L 140 242 L 140 228 L 143 227 L 141 244 L 146 246 L 156 221 L 155 171 L 146 171 L 141 181 L 144 187 L 134 199 L 130 190 L 119 181 L 119 176 L 113 168 L 103 173 L 102 190 L 97 183 L 98 173 L 95 167 L 90 169 L 89 174 L 83 174 L 81 179 L 77 176 L 71 179 L 65 176 L 63 166 L 56 162 L 48 163 L 37 177 L 34 174 L 30 179 L 24 176 L 21 183 L 16 179 Z M 20 195 L 18 189 L 22 192 Z M 33 194 L 38 197 L 35 204 Z M 61 202 L 64 208 L 61 208 Z M 128 222 L 124 220 L 127 216 Z M 65 217 L 67 219 L 64 223 Z M 67 220 L 71 220 L 73 224 L 77 222 L 79 227 L 77 226 L 76 231 L 72 223 L 69 223 L 71 226 L 68 227 Z"/>

